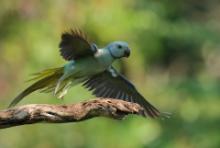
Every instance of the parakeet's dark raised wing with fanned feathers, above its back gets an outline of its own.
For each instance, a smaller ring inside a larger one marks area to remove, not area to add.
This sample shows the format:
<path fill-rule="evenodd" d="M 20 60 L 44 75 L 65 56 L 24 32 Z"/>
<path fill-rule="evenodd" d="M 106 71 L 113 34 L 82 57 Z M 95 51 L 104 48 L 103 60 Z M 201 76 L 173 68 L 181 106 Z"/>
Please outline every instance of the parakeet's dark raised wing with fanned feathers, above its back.
<path fill-rule="evenodd" d="M 59 47 L 61 56 L 67 61 L 91 56 L 96 52 L 95 46 L 89 43 L 80 30 L 63 33 Z"/>

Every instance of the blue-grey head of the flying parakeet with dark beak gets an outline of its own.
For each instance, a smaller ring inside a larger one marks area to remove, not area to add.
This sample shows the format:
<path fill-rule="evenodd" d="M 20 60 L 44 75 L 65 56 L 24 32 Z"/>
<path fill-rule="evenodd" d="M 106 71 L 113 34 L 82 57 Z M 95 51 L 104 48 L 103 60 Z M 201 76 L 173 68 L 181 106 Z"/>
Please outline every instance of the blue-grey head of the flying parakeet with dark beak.
<path fill-rule="evenodd" d="M 111 54 L 111 56 L 115 59 L 119 59 L 122 57 L 129 57 L 131 50 L 128 47 L 128 43 L 123 41 L 115 41 L 107 45 L 107 50 Z"/>

